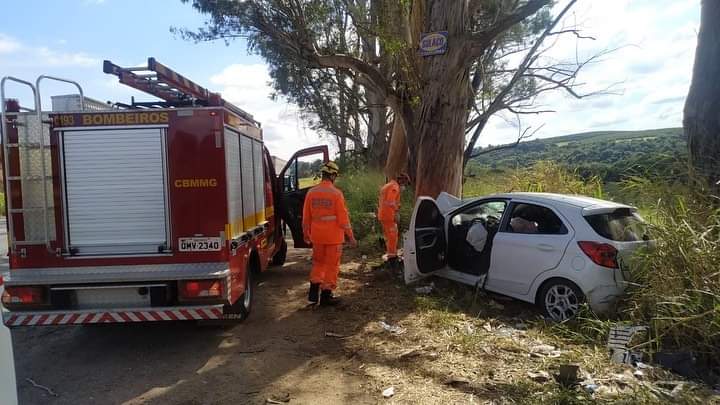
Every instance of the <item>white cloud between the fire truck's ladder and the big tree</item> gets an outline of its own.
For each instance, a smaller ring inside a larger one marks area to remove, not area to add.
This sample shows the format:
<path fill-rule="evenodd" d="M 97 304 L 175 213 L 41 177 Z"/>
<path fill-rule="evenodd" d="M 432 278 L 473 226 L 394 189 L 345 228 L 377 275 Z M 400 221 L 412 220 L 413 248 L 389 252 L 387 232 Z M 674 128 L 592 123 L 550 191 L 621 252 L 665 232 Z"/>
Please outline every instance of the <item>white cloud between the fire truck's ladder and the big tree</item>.
<path fill-rule="evenodd" d="M 234 64 L 210 77 L 223 98 L 252 114 L 263 126 L 270 153 L 283 159 L 296 150 L 326 143 L 307 128 L 297 107 L 282 99 L 271 100 L 270 75 L 264 64 Z"/>

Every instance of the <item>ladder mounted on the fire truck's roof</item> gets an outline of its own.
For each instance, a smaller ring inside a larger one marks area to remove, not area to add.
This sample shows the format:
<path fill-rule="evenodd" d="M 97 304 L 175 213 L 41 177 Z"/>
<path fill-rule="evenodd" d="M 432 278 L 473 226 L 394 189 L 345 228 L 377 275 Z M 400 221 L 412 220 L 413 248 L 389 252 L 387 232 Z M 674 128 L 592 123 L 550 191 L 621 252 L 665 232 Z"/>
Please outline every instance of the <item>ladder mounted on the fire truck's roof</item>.
<path fill-rule="evenodd" d="M 151 94 L 163 102 L 139 102 L 134 100 L 131 105 L 118 104 L 128 108 L 167 108 L 167 107 L 225 107 L 242 118 L 260 126 L 252 115 L 244 110 L 226 102 L 219 93 L 198 85 L 185 76 L 173 71 L 169 67 L 148 58 L 147 66 L 123 68 L 106 60 L 103 62 L 103 72 L 115 75 L 120 83 L 134 89 Z"/>

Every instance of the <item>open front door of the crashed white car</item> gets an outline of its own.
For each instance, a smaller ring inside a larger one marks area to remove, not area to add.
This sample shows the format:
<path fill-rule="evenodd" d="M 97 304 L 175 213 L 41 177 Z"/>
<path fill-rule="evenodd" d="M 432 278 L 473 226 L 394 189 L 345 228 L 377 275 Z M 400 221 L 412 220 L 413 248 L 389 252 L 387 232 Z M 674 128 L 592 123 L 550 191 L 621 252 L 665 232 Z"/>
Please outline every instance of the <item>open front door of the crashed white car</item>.
<path fill-rule="evenodd" d="M 445 268 L 446 254 L 445 217 L 435 200 L 420 197 L 405 236 L 405 282 L 411 283 Z"/>

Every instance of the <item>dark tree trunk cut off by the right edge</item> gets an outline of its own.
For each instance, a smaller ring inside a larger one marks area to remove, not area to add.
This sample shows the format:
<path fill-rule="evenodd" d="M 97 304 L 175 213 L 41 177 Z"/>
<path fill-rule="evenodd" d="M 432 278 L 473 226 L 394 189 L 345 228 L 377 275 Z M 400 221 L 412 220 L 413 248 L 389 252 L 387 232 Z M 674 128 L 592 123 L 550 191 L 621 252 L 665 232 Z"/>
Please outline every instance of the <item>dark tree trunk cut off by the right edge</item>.
<path fill-rule="evenodd" d="M 700 33 L 683 127 L 695 174 L 720 180 L 720 1 L 703 0 Z"/>

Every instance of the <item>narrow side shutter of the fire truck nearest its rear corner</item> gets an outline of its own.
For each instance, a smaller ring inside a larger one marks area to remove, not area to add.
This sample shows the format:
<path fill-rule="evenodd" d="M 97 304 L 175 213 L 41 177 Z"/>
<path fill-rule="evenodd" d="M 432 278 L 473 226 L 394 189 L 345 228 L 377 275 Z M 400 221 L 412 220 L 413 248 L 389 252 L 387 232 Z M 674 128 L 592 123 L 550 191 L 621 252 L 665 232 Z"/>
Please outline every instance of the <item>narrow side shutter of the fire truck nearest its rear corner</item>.
<path fill-rule="evenodd" d="M 228 194 L 228 237 L 235 239 L 243 232 L 242 179 L 240 168 L 240 139 L 237 132 L 225 131 L 225 167 Z"/>

